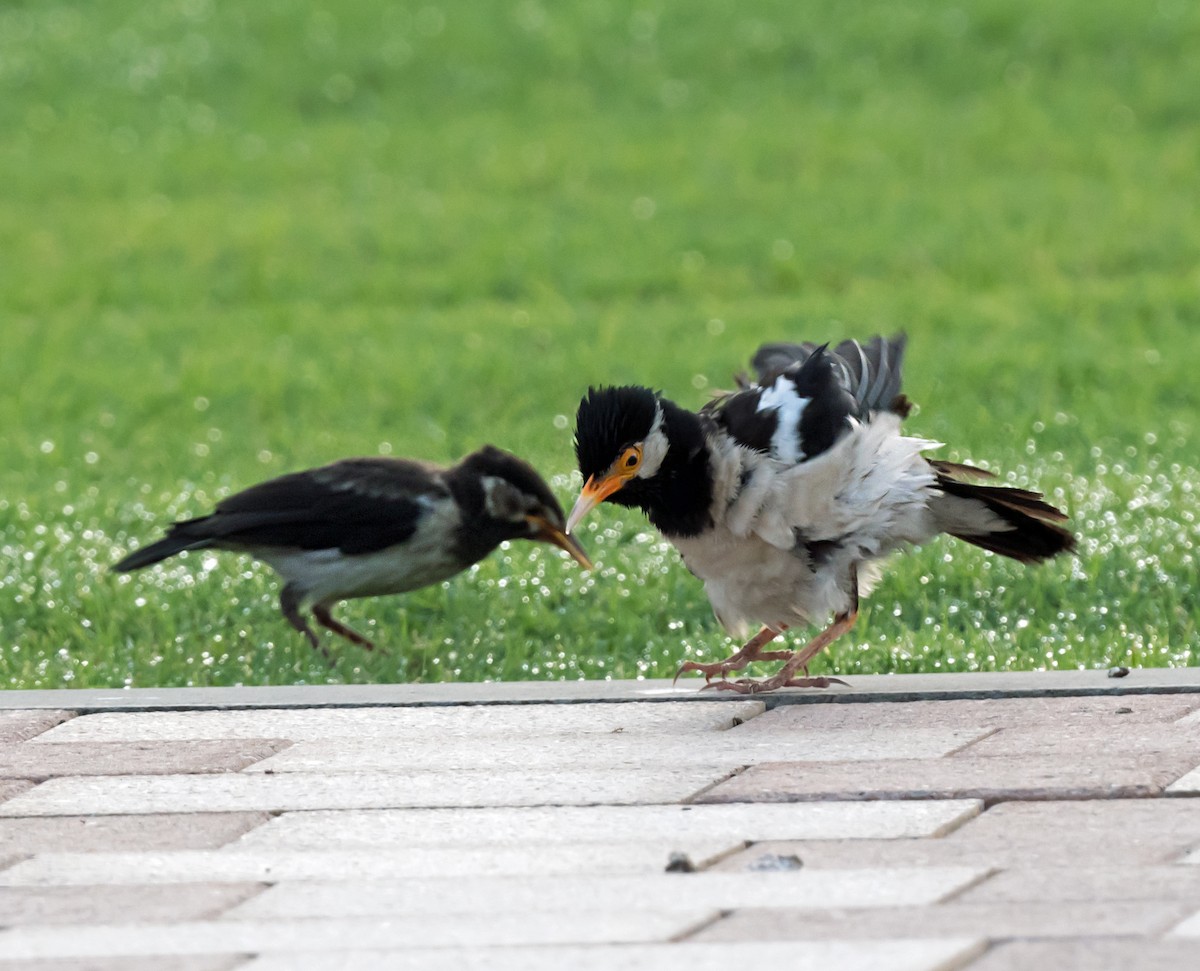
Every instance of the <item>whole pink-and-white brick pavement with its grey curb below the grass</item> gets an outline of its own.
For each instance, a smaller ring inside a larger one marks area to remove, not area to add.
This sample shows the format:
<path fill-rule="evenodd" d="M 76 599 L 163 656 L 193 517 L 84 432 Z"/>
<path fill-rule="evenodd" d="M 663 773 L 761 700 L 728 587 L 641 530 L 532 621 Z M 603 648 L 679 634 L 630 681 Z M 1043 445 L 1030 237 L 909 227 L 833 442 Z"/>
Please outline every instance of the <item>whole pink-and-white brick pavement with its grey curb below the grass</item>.
<path fill-rule="evenodd" d="M 1138 673 L 17 693 L 0 971 L 1187 967 L 1200 672 Z"/>

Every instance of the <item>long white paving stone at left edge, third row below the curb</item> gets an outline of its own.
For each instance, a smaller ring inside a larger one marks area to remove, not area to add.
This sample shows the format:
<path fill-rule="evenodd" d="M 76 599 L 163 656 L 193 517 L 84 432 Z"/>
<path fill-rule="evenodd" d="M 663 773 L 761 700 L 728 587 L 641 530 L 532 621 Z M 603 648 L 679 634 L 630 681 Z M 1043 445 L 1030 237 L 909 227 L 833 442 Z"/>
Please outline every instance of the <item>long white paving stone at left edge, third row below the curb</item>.
<path fill-rule="evenodd" d="M 8 799 L 0 816 L 671 803 L 734 768 L 71 777 Z"/>

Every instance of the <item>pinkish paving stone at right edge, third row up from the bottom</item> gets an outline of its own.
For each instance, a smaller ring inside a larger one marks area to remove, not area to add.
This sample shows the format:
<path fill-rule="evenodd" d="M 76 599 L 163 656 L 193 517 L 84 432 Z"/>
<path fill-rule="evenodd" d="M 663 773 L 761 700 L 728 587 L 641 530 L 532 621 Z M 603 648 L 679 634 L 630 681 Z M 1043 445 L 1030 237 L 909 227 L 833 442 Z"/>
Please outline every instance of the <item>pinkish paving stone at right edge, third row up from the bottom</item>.
<path fill-rule="evenodd" d="M 1200 907 L 1200 868 L 1014 867 L 954 899 L 962 904 L 1043 900 L 1187 900 Z"/>

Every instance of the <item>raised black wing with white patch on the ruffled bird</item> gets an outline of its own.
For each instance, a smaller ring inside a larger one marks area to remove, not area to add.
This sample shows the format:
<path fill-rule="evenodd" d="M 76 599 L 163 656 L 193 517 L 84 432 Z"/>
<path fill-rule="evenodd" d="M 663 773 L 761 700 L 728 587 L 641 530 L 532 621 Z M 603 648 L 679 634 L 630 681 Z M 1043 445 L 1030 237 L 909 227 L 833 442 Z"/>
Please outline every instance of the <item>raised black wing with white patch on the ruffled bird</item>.
<path fill-rule="evenodd" d="M 865 347 L 763 344 L 754 356 L 757 384 L 704 407 L 737 442 L 782 462 L 803 462 L 829 449 L 872 412 L 907 413 L 900 395 L 905 337 L 875 337 Z"/>

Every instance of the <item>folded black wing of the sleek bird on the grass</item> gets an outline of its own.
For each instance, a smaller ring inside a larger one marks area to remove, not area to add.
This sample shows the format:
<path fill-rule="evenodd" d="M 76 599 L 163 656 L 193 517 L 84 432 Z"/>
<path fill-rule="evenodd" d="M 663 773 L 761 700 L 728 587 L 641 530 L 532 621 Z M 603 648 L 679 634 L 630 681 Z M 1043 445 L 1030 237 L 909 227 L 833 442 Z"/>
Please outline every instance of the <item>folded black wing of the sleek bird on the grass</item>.
<path fill-rule="evenodd" d="M 450 501 L 439 473 L 403 458 L 348 458 L 252 486 L 175 532 L 214 545 L 368 553 L 406 541 Z"/>

